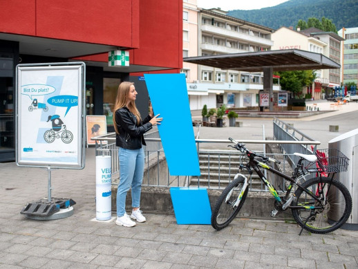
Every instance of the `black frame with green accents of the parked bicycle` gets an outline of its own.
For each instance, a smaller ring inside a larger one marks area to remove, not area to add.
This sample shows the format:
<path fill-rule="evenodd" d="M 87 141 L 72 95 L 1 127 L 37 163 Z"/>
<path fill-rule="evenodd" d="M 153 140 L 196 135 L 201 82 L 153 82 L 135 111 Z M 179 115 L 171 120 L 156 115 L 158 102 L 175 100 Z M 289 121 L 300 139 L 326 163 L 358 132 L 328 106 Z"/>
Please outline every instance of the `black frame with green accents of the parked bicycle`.
<path fill-rule="evenodd" d="M 310 190 L 306 189 L 305 187 L 302 187 L 302 185 L 300 183 L 296 183 L 295 178 L 292 178 L 290 176 L 287 176 L 283 173 L 281 173 L 281 171 L 278 171 L 268 165 L 266 165 L 265 163 L 261 163 L 258 160 L 255 160 L 254 157 L 250 157 L 249 156 L 249 163 L 248 163 L 248 167 L 253 168 L 254 171 L 256 172 L 256 174 L 258 175 L 258 177 L 263 181 L 263 183 L 267 186 L 267 188 L 269 189 L 270 193 L 272 194 L 272 196 L 274 196 L 274 198 L 276 199 L 276 201 L 279 203 L 279 205 L 283 205 L 283 201 L 281 199 L 281 197 L 279 196 L 277 190 L 275 189 L 275 187 L 267 180 L 267 178 L 265 178 L 263 172 L 258 168 L 258 167 L 262 167 L 263 169 L 270 171 L 270 173 L 272 174 L 276 174 L 278 176 L 281 176 L 282 178 L 285 178 L 285 180 L 290 181 L 290 186 L 288 187 L 288 190 L 285 192 L 285 198 L 288 198 L 288 195 L 291 192 L 292 189 L 292 185 L 296 185 L 297 187 L 299 187 L 300 189 L 303 189 L 303 191 L 310 195 L 312 198 L 314 198 L 316 201 L 318 201 L 321 204 L 321 200 L 319 198 L 317 198 L 317 196 L 315 196 L 314 194 L 312 194 L 312 192 L 310 192 Z M 294 194 L 293 194 L 294 195 Z M 321 209 L 322 207 L 315 207 L 315 206 L 291 206 L 289 205 L 288 208 L 290 209 Z"/>

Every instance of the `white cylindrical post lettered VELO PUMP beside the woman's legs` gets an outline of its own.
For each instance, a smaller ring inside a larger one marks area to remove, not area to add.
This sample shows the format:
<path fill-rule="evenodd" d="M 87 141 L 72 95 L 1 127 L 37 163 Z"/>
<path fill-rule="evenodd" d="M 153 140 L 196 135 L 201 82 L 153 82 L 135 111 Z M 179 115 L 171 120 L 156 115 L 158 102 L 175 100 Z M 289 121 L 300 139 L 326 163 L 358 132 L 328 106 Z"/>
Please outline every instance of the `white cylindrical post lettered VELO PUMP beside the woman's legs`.
<path fill-rule="evenodd" d="M 111 219 L 111 156 L 96 156 L 96 219 Z"/>

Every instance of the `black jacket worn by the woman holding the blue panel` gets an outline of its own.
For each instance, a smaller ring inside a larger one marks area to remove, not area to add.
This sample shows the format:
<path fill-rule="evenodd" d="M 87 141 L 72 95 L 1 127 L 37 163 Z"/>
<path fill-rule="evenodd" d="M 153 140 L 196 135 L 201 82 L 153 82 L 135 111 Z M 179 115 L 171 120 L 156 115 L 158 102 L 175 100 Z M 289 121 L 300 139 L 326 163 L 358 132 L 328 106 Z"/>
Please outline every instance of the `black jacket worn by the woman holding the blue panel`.
<path fill-rule="evenodd" d="M 115 122 L 120 134 L 115 136 L 115 145 L 124 149 L 140 149 L 146 145 L 143 134 L 152 128 L 151 116 L 148 115 L 137 125 L 137 118 L 126 106 L 115 111 Z"/>

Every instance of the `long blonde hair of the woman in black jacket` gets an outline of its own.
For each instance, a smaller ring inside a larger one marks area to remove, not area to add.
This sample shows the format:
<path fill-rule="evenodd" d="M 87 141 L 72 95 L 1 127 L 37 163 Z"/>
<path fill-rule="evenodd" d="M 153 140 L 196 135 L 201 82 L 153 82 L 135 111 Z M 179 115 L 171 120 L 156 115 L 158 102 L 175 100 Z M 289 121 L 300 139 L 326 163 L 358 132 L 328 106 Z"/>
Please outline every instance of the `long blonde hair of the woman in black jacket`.
<path fill-rule="evenodd" d="M 115 122 L 115 111 L 117 111 L 118 109 L 122 109 L 122 107 L 126 106 L 126 103 L 128 102 L 127 98 L 132 85 L 134 85 L 133 82 L 122 82 L 120 86 L 118 86 L 117 98 L 115 99 L 115 104 L 113 109 L 113 124 L 116 133 L 120 133 L 120 132 L 117 129 L 117 122 Z M 137 117 L 137 124 L 139 124 L 141 118 L 137 106 L 135 106 L 135 102 L 131 100 L 127 108 L 129 109 L 129 111 L 131 111 L 131 113 L 133 113 Z"/>

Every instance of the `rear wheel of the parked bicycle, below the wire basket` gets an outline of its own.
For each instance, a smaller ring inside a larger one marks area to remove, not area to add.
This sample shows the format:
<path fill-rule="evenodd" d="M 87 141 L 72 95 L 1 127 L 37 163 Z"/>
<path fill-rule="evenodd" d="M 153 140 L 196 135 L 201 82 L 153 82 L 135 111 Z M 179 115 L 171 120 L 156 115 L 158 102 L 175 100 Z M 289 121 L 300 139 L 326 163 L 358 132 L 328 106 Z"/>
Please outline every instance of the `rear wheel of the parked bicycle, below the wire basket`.
<path fill-rule="evenodd" d="M 315 200 L 303 189 L 296 190 L 296 201 L 291 205 L 305 208 L 292 208 L 292 215 L 303 229 L 316 234 L 326 234 L 346 223 L 352 212 L 352 197 L 342 183 L 322 176 L 306 181 L 302 187 L 321 201 Z"/>

